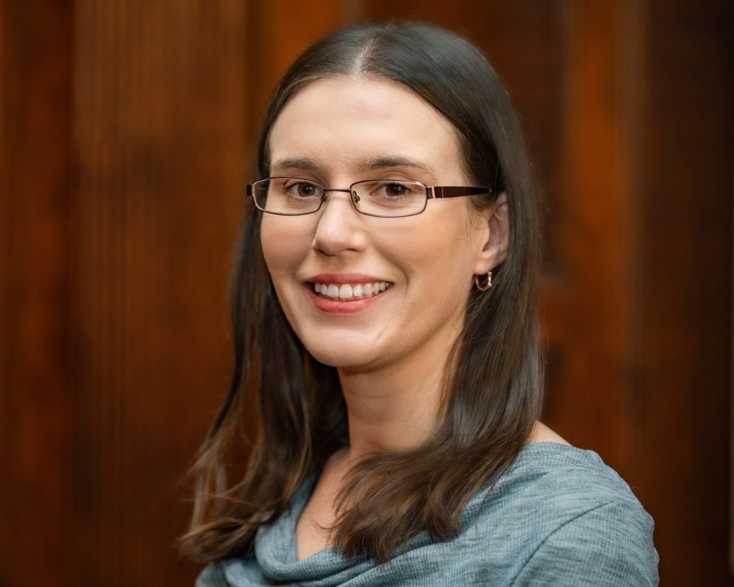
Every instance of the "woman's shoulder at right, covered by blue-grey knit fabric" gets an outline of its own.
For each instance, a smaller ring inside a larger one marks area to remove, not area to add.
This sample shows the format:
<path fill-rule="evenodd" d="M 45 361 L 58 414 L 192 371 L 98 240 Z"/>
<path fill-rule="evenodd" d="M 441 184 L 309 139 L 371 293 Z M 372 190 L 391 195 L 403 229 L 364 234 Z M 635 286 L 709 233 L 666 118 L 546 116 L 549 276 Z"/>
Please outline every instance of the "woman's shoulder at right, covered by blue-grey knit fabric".
<path fill-rule="evenodd" d="M 473 546 L 506 564 L 513 586 L 657 585 L 653 519 L 594 451 L 526 445 L 476 497 Z"/>

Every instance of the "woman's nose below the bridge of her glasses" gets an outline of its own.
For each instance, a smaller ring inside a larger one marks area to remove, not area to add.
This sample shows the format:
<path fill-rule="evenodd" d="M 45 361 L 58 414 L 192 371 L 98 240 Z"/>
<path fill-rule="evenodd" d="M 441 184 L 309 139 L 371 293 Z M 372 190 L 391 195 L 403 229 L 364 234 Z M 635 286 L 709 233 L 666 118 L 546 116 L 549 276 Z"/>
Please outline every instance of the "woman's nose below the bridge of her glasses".
<path fill-rule="evenodd" d="M 365 236 L 360 229 L 363 216 L 352 204 L 348 189 L 330 189 L 327 201 L 319 214 L 313 248 L 326 255 L 339 255 L 345 251 L 360 251 L 365 246 Z M 346 192 L 346 193 L 345 193 Z"/>

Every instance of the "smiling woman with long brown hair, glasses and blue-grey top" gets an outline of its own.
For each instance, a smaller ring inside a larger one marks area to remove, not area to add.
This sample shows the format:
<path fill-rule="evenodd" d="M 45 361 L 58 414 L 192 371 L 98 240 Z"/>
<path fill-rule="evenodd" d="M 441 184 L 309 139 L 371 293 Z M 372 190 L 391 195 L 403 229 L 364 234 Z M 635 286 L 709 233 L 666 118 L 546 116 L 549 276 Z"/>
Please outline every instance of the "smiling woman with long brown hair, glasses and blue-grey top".
<path fill-rule="evenodd" d="M 484 56 L 331 34 L 277 87 L 257 172 L 197 586 L 657 584 L 629 487 L 538 421 L 536 203 Z"/>

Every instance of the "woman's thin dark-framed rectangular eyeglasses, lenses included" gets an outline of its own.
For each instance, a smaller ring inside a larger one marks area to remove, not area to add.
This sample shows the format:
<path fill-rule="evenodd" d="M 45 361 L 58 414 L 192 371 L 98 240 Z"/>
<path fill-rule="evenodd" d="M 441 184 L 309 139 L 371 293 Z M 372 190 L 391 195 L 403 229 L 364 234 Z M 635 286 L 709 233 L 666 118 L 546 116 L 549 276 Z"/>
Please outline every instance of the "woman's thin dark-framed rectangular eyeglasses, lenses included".
<path fill-rule="evenodd" d="M 490 188 L 463 186 L 426 186 L 419 181 L 365 180 L 349 189 L 327 188 L 320 181 L 302 178 L 266 178 L 245 186 L 255 206 L 268 214 L 302 216 L 313 214 L 329 199 L 328 192 L 346 192 L 360 214 L 396 218 L 415 216 L 426 209 L 428 200 L 437 197 L 462 197 L 491 194 Z"/>

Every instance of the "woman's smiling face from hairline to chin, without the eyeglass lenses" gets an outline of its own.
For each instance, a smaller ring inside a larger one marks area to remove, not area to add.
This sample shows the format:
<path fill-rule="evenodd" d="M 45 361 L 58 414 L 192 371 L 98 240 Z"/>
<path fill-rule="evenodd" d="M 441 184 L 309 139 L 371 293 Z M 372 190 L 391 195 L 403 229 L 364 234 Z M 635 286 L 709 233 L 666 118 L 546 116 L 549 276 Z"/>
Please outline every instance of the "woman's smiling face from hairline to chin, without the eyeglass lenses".
<path fill-rule="evenodd" d="M 470 185 L 453 126 L 385 79 L 308 85 L 280 113 L 269 144 L 274 177 L 330 188 L 368 179 Z M 278 299 L 306 349 L 327 365 L 371 371 L 429 345 L 448 348 L 462 327 L 473 276 L 499 262 L 491 212 L 479 214 L 457 197 L 429 200 L 416 216 L 377 218 L 357 212 L 349 194 L 329 194 L 315 214 L 262 219 Z M 384 290 L 370 293 L 382 282 Z"/>

